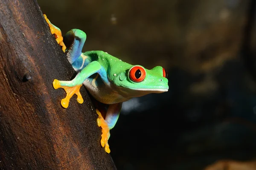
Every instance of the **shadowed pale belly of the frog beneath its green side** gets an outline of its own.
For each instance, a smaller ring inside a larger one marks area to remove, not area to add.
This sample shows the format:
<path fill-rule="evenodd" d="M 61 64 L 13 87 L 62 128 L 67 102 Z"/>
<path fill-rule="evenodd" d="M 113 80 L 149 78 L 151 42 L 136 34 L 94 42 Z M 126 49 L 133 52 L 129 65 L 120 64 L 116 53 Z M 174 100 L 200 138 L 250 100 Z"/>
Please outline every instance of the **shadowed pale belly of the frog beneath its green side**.
<path fill-rule="evenodd" d="M 87 91 L 89 91 L 89 93 L 99 102 L 110 105 L 125 102 L 130 99 L 122 96 L 115 85 L 106 85 L 101 80 L 99 81 L 100 82 L 96 83 L 95 81 L 90 81 L 89 79 L 86 79 L 83 82 Z"/>

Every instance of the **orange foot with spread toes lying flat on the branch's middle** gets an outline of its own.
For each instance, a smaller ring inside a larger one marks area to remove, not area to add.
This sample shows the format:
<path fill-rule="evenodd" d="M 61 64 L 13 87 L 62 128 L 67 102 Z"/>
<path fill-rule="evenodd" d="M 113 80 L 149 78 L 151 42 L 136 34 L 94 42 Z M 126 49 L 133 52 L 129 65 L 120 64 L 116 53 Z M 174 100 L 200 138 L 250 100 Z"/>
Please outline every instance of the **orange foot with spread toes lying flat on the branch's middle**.
<path fill-rule="evenodd" d="M 67 108 L 68 107 L 68 104 L 69 104 L 69 101 L 70 101 L 70 98 L 76 94 L 77 95 L 77 102 L 79 102 L 80 104 L 82 104 L 84 102 L 84 99 L 82 98 L 81 96 L 81 93 L 80 93 L 80 87 L 81 85 L 76 85 L 74 87 L 68 87 L 68 86 L 62 86 L 60 81 L 55 79 L 53 82 L 52 82 L 52 85 L 53 85 L 53 88 L 57 89 L 57 88 L 63 88 L 67 95 L 64 99 L 61 99 L 61 105 L 64 107 L 64 108 Z"/>

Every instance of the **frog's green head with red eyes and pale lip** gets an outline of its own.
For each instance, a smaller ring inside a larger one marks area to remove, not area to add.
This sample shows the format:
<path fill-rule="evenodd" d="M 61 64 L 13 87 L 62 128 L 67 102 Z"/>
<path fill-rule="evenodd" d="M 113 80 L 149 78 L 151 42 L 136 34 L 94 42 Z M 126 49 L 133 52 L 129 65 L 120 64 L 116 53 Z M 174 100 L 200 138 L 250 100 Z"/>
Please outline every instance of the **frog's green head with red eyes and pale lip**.
<path fill-rule="evenodd" d="M 160 66 L 148 70 L 141 65 L 130 65 L 113 75 L 113 84 L 132 97 L 163 93 L 169 89 L 166 71 Z"/>

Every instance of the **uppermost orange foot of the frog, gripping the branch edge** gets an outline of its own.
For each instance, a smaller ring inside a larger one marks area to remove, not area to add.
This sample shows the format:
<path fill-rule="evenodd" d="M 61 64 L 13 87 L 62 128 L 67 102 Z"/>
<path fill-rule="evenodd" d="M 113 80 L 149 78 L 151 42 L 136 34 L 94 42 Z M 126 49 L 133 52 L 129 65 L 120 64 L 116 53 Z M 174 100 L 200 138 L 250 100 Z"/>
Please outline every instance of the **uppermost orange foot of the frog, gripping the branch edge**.
<path fill-rule="evenodd" d="M 54 34 L 57 43 L 62 46 L 62 51 L 65 52 L 66 51 L 66 45 L 63 42 L 63 37 L 62 37 L 62 34 L 61 34 L 61 30 L 58 27 L 54 26 L 49 21 L 46 14 L 44 14 L 44 18 L 45 18 L 46 22 L 48 23 L 48 26 L 50 28 L 51 33 Z"/>

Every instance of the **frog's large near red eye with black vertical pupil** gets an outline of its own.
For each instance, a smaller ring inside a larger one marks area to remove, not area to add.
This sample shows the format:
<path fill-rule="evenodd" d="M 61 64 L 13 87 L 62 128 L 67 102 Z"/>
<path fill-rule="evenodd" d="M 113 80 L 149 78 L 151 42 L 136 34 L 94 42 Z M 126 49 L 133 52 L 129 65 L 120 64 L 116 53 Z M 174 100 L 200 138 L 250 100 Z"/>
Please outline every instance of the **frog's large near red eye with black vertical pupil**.
<path fill-rule="evenodd" d="M 140 66 L 134 66 L 129 72 L 129 77 L 134 82 L 142 82 L 146 77 L 146 71 Z"/>

